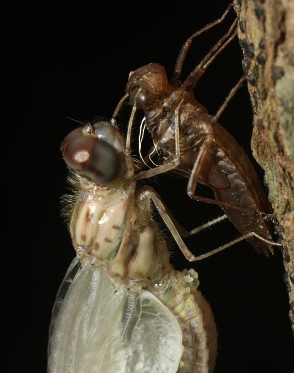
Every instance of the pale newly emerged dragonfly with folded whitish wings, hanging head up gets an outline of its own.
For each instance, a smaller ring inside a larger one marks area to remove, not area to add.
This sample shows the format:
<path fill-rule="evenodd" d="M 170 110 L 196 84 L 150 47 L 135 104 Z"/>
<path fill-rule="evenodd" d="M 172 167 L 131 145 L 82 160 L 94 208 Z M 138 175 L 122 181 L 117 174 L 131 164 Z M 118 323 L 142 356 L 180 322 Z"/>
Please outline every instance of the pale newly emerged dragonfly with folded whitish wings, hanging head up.
<path fill-rule="evenodd" d="M 217 331 L 197 273 L 175 271 L 151 201 L 185 256 L 158 195 L 136 189 L 116 121 L 73 130 L 61 150 L 76 189 L 70 232 L 77 257 L 57 295 L 48 373 L 212 372 Z"/>

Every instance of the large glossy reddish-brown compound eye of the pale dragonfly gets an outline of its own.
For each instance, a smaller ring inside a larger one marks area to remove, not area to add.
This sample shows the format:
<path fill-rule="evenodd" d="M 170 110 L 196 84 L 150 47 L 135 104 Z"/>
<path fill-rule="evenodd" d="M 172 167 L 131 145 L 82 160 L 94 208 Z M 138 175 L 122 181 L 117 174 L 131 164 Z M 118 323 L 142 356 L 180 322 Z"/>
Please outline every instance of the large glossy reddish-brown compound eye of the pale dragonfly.
<path fill-rule="evenodd" d="M 68 136 L 65 140 L 67 138 Z M 62 145 L 62 151 L 64 160 L 71 169 L 97 184 L 112 182 L 121 172 L 116 149 L 95 136 L 80 134 L 73 137 Z"/>

